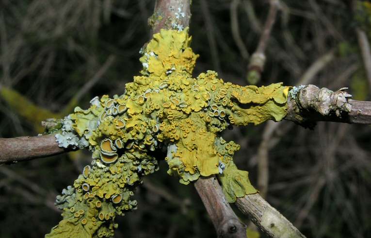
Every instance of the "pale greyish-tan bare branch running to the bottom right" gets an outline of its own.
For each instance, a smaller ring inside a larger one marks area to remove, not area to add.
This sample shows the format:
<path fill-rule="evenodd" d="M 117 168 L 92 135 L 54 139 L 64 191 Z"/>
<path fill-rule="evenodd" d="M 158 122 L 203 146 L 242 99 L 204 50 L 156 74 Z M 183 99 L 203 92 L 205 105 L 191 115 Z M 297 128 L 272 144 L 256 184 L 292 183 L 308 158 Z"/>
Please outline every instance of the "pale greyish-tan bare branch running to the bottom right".
<path fill-rule="evenodd" d="M 238 198 L 236 205 L 270 238 L 305 238 L 290 221 L 259 194 L 249 194 Z"/>

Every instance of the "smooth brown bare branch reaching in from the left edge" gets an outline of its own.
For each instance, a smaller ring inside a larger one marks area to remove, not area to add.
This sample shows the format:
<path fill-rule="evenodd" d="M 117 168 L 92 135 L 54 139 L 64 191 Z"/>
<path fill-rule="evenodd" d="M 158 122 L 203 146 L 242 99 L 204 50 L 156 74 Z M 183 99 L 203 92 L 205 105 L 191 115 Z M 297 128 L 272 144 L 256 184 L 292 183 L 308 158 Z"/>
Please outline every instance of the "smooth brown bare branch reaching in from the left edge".
<path fill-rule="evenodd" d="M 68 152 L 58 147 L 54 135 L 0 138 L 0 164 L 16 163 Z"/>

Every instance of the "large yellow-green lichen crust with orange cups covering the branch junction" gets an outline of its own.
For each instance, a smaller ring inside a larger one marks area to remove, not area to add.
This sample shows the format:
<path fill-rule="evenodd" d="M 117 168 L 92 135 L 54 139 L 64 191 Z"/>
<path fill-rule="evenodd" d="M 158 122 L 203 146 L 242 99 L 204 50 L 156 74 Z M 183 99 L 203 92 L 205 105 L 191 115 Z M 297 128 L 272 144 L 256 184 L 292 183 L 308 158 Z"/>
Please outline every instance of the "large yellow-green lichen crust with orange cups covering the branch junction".
<path fill-rule="evenodd" d="M 123 95 L 94 98 L 89 109 L 77 107 L 64 119 L 58 143 L 89 147 L 93 161 L 57 197 L 63 221 L 46 237 L 113 236 L 115 216 L 136 208 L 135 187 L 158 170 L 156 150 L 167 149 L 168 173 L 182 184 L 217 174 L 228 202 L 257 192 L 233 163 L 240 146 L 220 133 L 230 125 L 283 119 L 289 87 L 233 85 L 214 71 L 192 78 L 198 55 L 190 42 L 188 29 L 154 34 L 142 50 L 142 75 Z"/>

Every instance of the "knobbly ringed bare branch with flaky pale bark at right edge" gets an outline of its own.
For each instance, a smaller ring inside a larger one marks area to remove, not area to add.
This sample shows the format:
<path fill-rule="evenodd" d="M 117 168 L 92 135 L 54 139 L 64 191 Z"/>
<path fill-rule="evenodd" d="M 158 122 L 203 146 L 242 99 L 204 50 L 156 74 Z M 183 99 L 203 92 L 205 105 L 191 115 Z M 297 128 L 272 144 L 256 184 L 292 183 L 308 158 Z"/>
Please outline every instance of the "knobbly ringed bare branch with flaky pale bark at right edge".
<path fill-rule="evenodd" d="M 371 124 L 371 102 L 351 100 L 350 94 L 315 85 L 301 85 L 290 90 L 285 119 L 306 127 L 316 121 Z"/>

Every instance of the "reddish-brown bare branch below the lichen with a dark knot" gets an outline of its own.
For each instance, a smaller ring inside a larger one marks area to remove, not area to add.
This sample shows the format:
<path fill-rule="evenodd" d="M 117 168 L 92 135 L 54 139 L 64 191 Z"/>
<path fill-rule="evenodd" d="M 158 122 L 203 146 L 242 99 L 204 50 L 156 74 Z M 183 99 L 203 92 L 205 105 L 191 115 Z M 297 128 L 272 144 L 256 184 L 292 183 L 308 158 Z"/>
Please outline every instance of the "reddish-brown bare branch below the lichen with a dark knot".
<path fill-rule="evenodd" d="M 246 238 L 246 226 L 226 201 L 215 176 L 198 179 L 194 187 L 210 215 L 218 238 Z"/>

